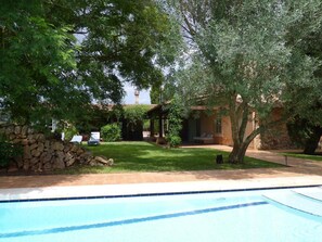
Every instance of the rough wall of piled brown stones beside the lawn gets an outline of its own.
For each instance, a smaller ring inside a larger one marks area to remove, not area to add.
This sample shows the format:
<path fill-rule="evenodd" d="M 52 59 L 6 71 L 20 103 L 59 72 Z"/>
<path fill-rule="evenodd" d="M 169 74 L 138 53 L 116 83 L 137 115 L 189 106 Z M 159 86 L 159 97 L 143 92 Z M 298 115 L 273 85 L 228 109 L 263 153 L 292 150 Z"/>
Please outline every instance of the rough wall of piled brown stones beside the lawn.
<path fill-rule="evenodd" d="M 47 139 L 28 126 L 1 125 L 0 133 L 22 147 L 22 155 L 12 161 L 11 167 L 33 171 L 63 169 L 76 164 L 112 165 L 105 157 L 93 157 L 85 148 L 55 139 Z"/>

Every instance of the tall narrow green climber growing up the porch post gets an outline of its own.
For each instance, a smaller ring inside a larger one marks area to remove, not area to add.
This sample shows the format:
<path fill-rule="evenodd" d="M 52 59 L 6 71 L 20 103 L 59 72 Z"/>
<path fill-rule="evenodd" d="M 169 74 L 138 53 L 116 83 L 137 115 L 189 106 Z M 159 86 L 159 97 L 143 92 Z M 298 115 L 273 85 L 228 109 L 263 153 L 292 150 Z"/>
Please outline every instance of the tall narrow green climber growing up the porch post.
<path fill-rule="evenodd" d="M 176 95 L 169 104 L 168 122 L 169 129 L 167 133 L 167 141 L 171 148 L 181 144 L 180 131 L 182 129 L 182 106 L 179 102 L 179 97 Z"/>

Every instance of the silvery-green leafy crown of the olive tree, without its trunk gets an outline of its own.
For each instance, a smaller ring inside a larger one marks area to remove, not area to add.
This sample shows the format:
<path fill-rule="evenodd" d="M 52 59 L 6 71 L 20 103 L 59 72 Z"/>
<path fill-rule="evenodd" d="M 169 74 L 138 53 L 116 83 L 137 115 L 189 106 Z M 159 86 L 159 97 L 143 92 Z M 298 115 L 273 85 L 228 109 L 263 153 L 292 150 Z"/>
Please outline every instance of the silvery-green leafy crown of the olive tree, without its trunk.
<path fill-rule="evenodd" d="M 189 8 L 189 3 L 194 8 Z M 196 12 L 207 4 L 209 11 Z M 305 44 L 298 43 L 319 30 L 321 2 L 247 0 L 210 4 L 188 0 L 178 8 L 183 28 L 195 44 L 192 64 L 183 68 L 190 73 L 189 77 L 183 78 L 204 87 L 196 88 L 204 90 L 204 93 L 196 91 L 196 95 L 218 100 L 220 105 L 224 102 L 221 97 L 229 100 L 237 94 L 253 109 L 262 110 L 262 105 L 272 109 L 276 100 L 288 100 L 292 85 L 317 87 L 312 77 L 320 63 L 304 52 Z M 226 11 L 218 14 L 222 8 Z M 188 26 L 192 22 L 197 26 L 193 33 Z M 295 29 L 295 23 L 304 29 Z M 199 79 L 191 78 L 193 71 L 199 73 Z M 207 77 L 201 72 L 207 73 Z M 183 78 L 180 79 L 182 87 L 189 89 Z"/>

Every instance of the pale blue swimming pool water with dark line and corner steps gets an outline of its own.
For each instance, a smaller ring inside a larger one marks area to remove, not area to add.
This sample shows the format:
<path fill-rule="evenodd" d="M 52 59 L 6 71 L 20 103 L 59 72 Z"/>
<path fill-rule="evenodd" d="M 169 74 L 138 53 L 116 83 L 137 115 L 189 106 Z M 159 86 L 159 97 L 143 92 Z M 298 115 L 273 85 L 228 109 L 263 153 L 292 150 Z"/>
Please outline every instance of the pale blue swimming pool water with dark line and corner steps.
<path fill-rule="evenodd" d="M 322 188 L 0 203 L 0 242 L 321 241 Z"/>

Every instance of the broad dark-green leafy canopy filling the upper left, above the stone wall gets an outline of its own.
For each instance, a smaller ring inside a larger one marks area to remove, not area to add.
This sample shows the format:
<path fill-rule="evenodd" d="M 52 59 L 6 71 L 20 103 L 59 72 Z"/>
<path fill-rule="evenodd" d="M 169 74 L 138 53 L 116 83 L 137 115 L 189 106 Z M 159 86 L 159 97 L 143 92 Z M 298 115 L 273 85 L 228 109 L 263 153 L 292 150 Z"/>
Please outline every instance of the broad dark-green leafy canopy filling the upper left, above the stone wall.
<path fill-rule="evenodd" d="M 0 104 L 12 118 L 77 119 L 149 87 L 173 60 L 176 26 L 154 0 L 1 0 Z"/>

